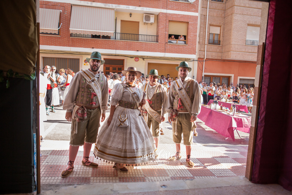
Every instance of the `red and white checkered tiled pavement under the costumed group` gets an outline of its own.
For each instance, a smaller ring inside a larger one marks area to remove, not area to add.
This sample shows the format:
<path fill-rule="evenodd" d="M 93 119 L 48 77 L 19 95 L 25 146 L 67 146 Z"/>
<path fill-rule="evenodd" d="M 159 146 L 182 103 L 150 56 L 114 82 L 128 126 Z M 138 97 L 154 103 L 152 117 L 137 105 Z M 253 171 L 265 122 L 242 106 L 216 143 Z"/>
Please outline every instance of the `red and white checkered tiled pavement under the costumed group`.
<path fill-rule="evenodd" d="M 157 182 L 173 180 L 192 180 L 244 176 L 248 146 L 203 145 L 194 143 L 191 159 L 194 168 L 186 164 L 186 151 L 182 145 L 182 158 L 168 161 L 165 158 L 176 151 L 175 144 L 160 144 L 159 159 L 147 164 L 129 167 L 129 172 L 113 169 L 112 162 L 96 159 L 91 151 L 91 161 L 99 164 L 98 168 L 83 166 L 83 147 L 79 148 L 74 164 L 74 171 L 67 178 L 61 178 L 62 170 L 67 167 L 68 141 L 45 140 L 41 143 L 41 184 L 95 184 L 95 183 L 131 183 Z M 52 149 L 54 146 L 54 149 Z M 93 147 L 92 147 L 93 148 Z"/>

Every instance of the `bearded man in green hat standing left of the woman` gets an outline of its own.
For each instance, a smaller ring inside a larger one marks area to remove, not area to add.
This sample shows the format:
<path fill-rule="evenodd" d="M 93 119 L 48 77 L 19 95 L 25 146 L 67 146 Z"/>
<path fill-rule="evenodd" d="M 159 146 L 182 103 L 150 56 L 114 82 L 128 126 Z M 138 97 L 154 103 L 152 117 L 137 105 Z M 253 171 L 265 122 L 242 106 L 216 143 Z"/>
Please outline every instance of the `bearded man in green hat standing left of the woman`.
<path fill-rule="evenodd" d="M 61 177 L 67 177 L 73 171 L 78 148 L 82 145 L 82 165 L 98 167 L 98 164 L 89 160 L 89 154 L 92 144 L 96 143 L 100 117 L 101 122 L 106 118 L 109 86 L 106 77 L 98 72 L 100 65 L 105 62 L 100 53 L 94 51 L 86 60 L 90 68 L 75 74 L 63 103 L 63 109 L 67 110 L 65 118 L 72 121 L 72 125 L 69 162 Z"/>

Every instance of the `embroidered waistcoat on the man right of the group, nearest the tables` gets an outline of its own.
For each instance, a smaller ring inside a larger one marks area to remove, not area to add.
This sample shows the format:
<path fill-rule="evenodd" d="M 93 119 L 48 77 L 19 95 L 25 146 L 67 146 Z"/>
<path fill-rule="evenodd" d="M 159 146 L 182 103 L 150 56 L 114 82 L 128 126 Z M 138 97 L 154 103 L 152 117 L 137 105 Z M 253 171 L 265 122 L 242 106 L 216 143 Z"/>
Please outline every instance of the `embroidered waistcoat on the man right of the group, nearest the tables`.
<path fill-rule="evenodd" d="M 191 102 L 193 103 L 194 101 L 194 85 L 195 85 L 195 80 L 193 79 L 189 79 L 186 81 L 186 93 L 189 96 L 189 99 L 191 100 Z M 176 84 L 176 83 L 175 83 Z M 173 86 L 172 87 L 172 94 L 174 95 L 175 99 L 173 101 L 173 109 L 177 110 L 178 112 L 188 112 L 187 108 L 185 107 L 185 105 L 183 104 L 182 100 L 180 100 L 181 104 L 182 104 L 182 108 L 178 108 L 179 107 L 179 94 L 176 91 L 176 88 Z"/>

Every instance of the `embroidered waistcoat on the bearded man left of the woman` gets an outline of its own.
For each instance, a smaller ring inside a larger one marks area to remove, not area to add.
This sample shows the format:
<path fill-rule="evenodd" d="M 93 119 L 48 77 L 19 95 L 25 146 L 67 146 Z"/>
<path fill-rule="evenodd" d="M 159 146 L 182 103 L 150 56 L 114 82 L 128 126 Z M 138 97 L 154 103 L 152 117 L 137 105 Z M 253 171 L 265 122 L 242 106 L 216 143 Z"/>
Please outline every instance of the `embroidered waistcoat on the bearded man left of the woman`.
<path fill-rule="evenodd" d="M 86 107 L 97 108 L 99 107 L 98 99 L 95 95 L 94 90 L 92 87 L 87 83 L 85 78 L 80 74 L 82 77 L 79 82 L 79 90 L 75 99 L 75 104 L 84 105 Z M 101 90 L 104 86 L 104 79 L 103 75 L 100 74 L 97 82 L 100 84 Z"/>

